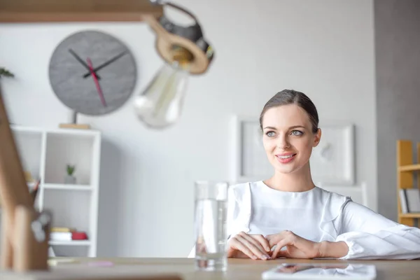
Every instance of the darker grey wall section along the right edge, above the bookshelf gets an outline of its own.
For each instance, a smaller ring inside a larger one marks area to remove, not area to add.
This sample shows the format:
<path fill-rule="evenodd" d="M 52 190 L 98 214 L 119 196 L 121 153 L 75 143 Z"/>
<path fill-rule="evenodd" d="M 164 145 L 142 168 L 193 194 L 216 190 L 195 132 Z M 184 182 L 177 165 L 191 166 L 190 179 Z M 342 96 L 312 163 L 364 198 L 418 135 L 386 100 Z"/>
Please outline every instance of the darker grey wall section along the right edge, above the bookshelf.
<path fill-rule="evenodd" d="M 374 25 L 378 211 L 396 221 L 396 141 L 420 141 L 420 1 L 374 1 Z"/>

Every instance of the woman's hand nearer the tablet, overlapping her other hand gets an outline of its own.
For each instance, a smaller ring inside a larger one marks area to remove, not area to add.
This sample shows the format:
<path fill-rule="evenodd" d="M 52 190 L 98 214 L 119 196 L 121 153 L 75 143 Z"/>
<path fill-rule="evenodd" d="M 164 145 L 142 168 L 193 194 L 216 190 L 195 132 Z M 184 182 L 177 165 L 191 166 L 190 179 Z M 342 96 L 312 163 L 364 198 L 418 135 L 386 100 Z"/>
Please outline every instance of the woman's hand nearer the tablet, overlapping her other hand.
<path fill-rule="evenodd" d="M 321 243 L 304 239 L 295 235 L 289 230 L 276 233 L 275 235 L 267 235 L 267 241 L 270 248 L 274 245 L 271 257 L 286 257 L 286 258 L 319 258 L 321 257 Z M 286 246 L 286 250 L 281 251 L 281 248 Z"/>

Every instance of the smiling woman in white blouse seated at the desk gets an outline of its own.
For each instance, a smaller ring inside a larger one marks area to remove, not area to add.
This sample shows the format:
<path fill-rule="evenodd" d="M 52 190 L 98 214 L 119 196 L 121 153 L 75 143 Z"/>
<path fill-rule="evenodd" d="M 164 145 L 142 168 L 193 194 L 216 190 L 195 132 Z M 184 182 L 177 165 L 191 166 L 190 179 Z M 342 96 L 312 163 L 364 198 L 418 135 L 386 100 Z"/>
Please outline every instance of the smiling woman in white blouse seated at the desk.
<path fill-rule="evenodd" d="M 265 181 L 230 187 L 229 258 L 420 258 L 419 228 L 314 185 L 309 158 L 321 129 L 305 94 L 274 95 L 262 110 L 260 127 L 275 172 Z"/>

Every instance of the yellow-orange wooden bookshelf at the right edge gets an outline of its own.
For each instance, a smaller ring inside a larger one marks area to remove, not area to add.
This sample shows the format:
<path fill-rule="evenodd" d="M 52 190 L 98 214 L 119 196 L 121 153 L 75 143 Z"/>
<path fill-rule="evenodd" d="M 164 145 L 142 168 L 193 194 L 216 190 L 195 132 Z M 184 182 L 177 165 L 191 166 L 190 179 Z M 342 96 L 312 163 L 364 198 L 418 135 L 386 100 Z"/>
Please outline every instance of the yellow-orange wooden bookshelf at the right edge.
<path fill-rule="evenodd" d="M 398 223 L 414 226 L 420 219 L 419 213 L 403 213 L 400 197 L 401 190 L 412 188 L 420 189 L 420 143 L 416 144 L 416 162 L 414 162 L 414 143 L 409 140 L 397 141 L 397 197 L 398 197 Z M 417 186 L 414 182 L 417 181 Z"/>

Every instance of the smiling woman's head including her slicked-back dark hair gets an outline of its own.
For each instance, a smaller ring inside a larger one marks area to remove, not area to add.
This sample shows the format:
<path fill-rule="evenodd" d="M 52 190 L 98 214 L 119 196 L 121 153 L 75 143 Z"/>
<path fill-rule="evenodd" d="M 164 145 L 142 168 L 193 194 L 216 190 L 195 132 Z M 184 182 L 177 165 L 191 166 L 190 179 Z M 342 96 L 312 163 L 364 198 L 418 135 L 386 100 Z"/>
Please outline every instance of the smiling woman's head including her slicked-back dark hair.
<path fill-rule="evenodd" d="M 321 139 L 321 130 L 316 108 L 305 94 L 295 91 L 276 94 L 262 109 L 260 127 L 269 162 L 279 174 L 289 174 L 295 179 L 309 174 L 309 158 Z M 308 186 L 305 182 L 298 188 L 305 190 Z"/>

